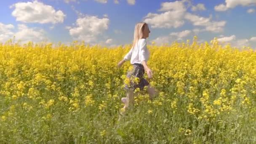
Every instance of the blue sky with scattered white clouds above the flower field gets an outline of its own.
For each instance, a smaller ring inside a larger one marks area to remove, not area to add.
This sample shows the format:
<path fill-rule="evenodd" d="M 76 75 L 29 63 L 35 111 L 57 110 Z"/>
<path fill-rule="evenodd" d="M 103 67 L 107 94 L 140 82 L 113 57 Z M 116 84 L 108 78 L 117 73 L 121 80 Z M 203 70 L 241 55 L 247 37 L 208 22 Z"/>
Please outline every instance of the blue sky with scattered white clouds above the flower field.
<path fill-rule="evenodd" d="M 148 43 L 174 40 L 256 48 L 256 0 L 1 0 L 0 42 L 27 41 L 123 45 L 139 21 L 149 24 Z"/>

